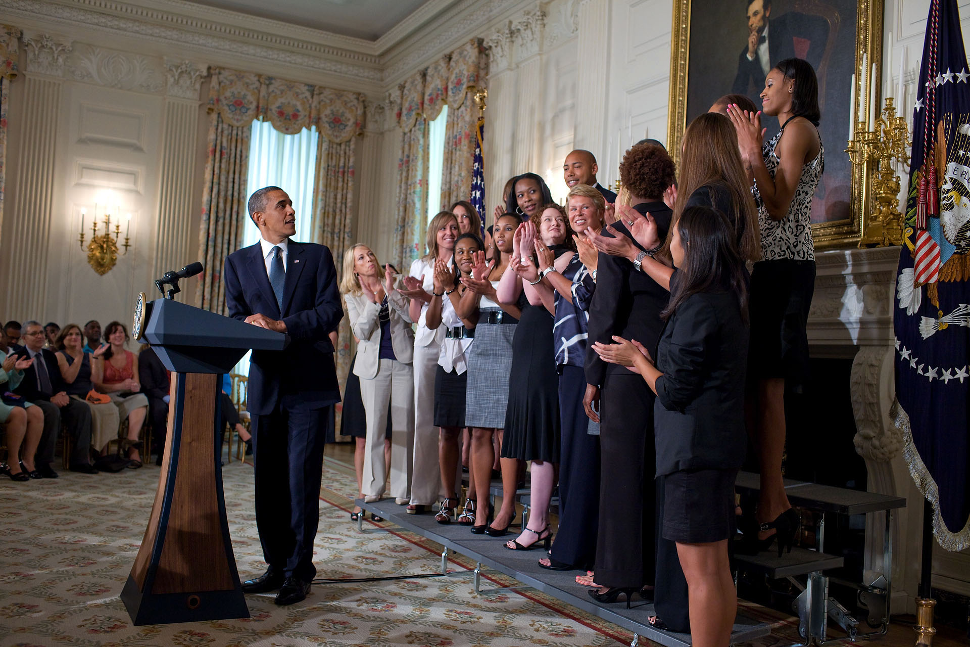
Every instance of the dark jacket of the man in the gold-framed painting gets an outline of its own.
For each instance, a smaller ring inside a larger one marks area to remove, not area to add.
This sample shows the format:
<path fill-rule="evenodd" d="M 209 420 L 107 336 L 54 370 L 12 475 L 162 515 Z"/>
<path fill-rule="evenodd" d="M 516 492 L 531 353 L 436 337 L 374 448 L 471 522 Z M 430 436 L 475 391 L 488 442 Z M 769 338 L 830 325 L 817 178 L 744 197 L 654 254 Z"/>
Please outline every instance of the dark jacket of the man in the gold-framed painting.
<path fill-rule="evenodd" d="M 786 58 L 793 58 L 797 53 L 795 39 L 808 42 L 808 50 L 803 58 L 818 71 L 828 40 L 828 22 L 822 16 L 797 12 L 771 18 L 768 22 L 769 65 L 774 66 Z M 748 94 L 751 83 L 754 83 L 753 90 L 757 96 L 764 89 L 764 70 L 761 69 L 757 54 L 755 60 L 748 60 L 748 46 L 745 44 L 737 58 L 737 74 L 730 91 L 735 94 Z M 757 101 L 755 105 L 758 105 Z"/>

